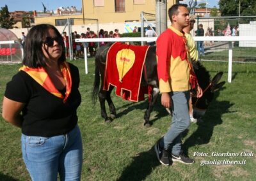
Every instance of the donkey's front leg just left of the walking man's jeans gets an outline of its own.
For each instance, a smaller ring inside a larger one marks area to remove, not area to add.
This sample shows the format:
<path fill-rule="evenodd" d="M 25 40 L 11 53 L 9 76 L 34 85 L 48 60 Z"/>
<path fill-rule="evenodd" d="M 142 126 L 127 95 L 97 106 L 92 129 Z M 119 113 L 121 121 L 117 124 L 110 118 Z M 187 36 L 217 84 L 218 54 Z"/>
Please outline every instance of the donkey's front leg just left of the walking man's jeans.
<path fill-rule="evenodd" d="M 151 113 L 152 110 L 153 110 L 153 107 L 154 107 L 154 105 L 155 105 L 155 103 L 156 103 L 156 100 L 157 100 L 158 95 L 159 95 L 159 89 L 155 87 L 155 88 L 152 90 L 152 92 L 151 92 L 151 98 L 150 98 L 150 100 L 148 101 L 148 107 L 147 107 L 147 110 L 146 110 L 146 112 L 145 112 L 145 114 L 144 114 L 144 120 L 145 120 L 144 126 L 146 126 L 146 127 L 151 126 L 151 123 L 149 122 L 150 113 Z"/>

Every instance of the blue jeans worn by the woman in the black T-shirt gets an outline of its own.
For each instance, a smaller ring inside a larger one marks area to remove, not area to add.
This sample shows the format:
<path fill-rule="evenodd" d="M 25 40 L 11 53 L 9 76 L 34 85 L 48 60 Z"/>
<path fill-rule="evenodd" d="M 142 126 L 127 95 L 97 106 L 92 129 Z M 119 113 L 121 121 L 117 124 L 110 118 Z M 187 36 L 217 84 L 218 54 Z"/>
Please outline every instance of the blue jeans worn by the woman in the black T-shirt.
<path fill-rule="evenodd" d="M 83 146 L 79 127 L 67 134 L 41 137 L 21 136 L 24 163 L 32 180 L 80 180 Z"/>

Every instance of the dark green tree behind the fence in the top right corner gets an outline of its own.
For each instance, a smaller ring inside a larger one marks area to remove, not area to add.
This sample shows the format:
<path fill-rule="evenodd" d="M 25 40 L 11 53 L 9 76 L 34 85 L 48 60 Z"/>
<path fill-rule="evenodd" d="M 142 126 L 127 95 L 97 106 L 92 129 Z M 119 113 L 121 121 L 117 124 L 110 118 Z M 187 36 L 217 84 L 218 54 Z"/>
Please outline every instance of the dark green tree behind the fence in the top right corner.
<path fill-rule="evenodd" d="M 239 4 L 241 16 L 256 14 L 256 0 L 220 0 L 221 16 L 238 16 Z"/>

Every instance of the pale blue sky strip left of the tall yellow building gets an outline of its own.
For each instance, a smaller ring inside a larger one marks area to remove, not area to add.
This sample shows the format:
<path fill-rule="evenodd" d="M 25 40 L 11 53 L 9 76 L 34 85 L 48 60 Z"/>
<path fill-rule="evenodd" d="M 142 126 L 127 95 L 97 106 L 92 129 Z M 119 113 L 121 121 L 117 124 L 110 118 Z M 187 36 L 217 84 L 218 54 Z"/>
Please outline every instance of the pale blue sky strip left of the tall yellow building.
<path fill-rule="evenodd" d="M 46 10 L 52 11 L 63 6 L 64 8 L 76 6 L 81 10 L 82 0 L 0 0 L 0 7 L 8 6 L 9 12 L 12 11 L 43 11 L 44 3 Z"/>

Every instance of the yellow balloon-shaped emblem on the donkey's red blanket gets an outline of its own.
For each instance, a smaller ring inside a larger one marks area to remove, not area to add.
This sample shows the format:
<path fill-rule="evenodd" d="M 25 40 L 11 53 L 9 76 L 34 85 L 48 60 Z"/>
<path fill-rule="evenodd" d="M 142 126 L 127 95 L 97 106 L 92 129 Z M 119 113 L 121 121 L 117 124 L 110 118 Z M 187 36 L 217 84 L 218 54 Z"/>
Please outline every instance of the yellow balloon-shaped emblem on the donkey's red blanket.
<path fill-rule="evenodd" d="M 119 74 L 119 81 L 122 82 L 123 77 L 132 68 L 135 61 L 135 54 L 131 49 L 122 49 L 116 54 L 116 66 Z"/>

